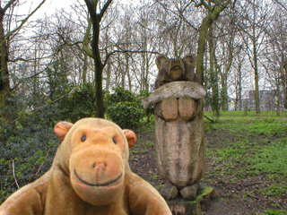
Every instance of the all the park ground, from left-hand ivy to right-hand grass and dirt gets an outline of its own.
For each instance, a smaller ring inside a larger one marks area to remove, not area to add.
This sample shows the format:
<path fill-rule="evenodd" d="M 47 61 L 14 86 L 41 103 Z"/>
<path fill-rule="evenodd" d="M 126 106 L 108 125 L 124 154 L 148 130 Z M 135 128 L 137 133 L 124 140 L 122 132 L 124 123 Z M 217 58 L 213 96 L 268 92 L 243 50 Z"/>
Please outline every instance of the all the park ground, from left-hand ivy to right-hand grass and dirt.
<path fill-rule="evenodd" d="M 204 112 L 207 167 L 202 182 L 221 197 L 208 202 L 206 215 L 287 214 L 287 112 Z M 30 122 L 30 121 L 29 121 Z M 60 143 L 53 127 L 37 122 L 17 125 L 0 147 L 0 203 L 19 187 L 43 175 Z M 154 119 L 135 129 L 138 142 L 130 151 L 132 170 L 160 189 L 155 165 Z"/>

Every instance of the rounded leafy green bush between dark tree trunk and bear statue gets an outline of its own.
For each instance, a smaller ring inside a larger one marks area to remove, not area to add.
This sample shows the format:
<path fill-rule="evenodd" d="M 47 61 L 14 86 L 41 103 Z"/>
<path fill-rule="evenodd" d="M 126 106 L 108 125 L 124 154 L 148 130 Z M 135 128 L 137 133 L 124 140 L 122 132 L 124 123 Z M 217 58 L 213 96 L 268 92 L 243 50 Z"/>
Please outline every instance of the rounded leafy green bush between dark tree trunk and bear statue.
<path fill-rule="evenodd" d="M 122 128 L 135 129 L 144 116 L 138 97 L 124 88 L 116 88 L 107 95 L 106 110 L 108 118 Z"/>

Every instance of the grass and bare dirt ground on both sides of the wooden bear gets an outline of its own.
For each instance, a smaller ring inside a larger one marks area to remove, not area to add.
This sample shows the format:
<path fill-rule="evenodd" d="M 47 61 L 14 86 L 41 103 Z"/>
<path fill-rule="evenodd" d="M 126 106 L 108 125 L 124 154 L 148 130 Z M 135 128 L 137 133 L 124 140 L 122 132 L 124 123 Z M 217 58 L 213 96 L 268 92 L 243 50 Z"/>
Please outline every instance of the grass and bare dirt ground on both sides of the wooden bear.
<path fill-rule="evenodd" d="M 213 186 L 221 197 L 208 202 L 204 214 L 287 214 L 287 113 L 280 117 L 274 112 L 205 115 L 216 123 L 204 121 L 207 167 L 202 182 Z M 160 189 L 153 122 L 136 132 L 131 168 Z"/>

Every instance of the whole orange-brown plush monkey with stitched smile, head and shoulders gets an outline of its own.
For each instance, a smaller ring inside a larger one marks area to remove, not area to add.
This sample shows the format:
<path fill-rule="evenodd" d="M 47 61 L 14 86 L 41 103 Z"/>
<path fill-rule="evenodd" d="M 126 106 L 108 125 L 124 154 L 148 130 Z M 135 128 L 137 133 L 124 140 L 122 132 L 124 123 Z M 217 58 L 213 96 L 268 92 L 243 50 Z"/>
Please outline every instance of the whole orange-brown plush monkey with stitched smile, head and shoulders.
<path fill-rule="evenodd" d="M 161 194 L 129 168 L 134 132 L 98 118 L 61 122 L 54 131 L 63 142 L 52 168 L 13 193 L 0 215 L 171 214 Z"/>

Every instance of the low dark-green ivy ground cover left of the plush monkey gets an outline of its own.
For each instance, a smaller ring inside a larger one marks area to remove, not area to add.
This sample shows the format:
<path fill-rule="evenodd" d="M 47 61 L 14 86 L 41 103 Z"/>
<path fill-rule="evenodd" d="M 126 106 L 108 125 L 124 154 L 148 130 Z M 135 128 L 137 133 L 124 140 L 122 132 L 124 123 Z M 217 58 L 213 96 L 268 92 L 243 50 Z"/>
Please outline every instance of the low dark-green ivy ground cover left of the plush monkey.
<path fill-rule="evenodd" d="M 42 176 L 51 167 L 57 146 L 53 127 L 30 123 L 0 139 L 0 204 L 18 187 Z M 14 172 L 13 172 L 14 168 Z"/>

